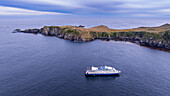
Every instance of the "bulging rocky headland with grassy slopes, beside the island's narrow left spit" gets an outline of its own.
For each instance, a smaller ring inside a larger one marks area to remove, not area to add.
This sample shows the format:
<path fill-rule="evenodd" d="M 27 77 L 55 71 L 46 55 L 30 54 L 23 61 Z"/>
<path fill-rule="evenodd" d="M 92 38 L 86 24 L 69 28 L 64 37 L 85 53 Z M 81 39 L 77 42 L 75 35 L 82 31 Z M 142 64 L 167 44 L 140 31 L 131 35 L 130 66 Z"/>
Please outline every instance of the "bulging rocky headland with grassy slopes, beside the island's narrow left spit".
<path fill-rule="evenodd" d="M 46 36 L 56 36 L 66 40 L 85 42 L 91 40 L 91 35 L 76 26 L 44 26 L 41 34 Z"/>

